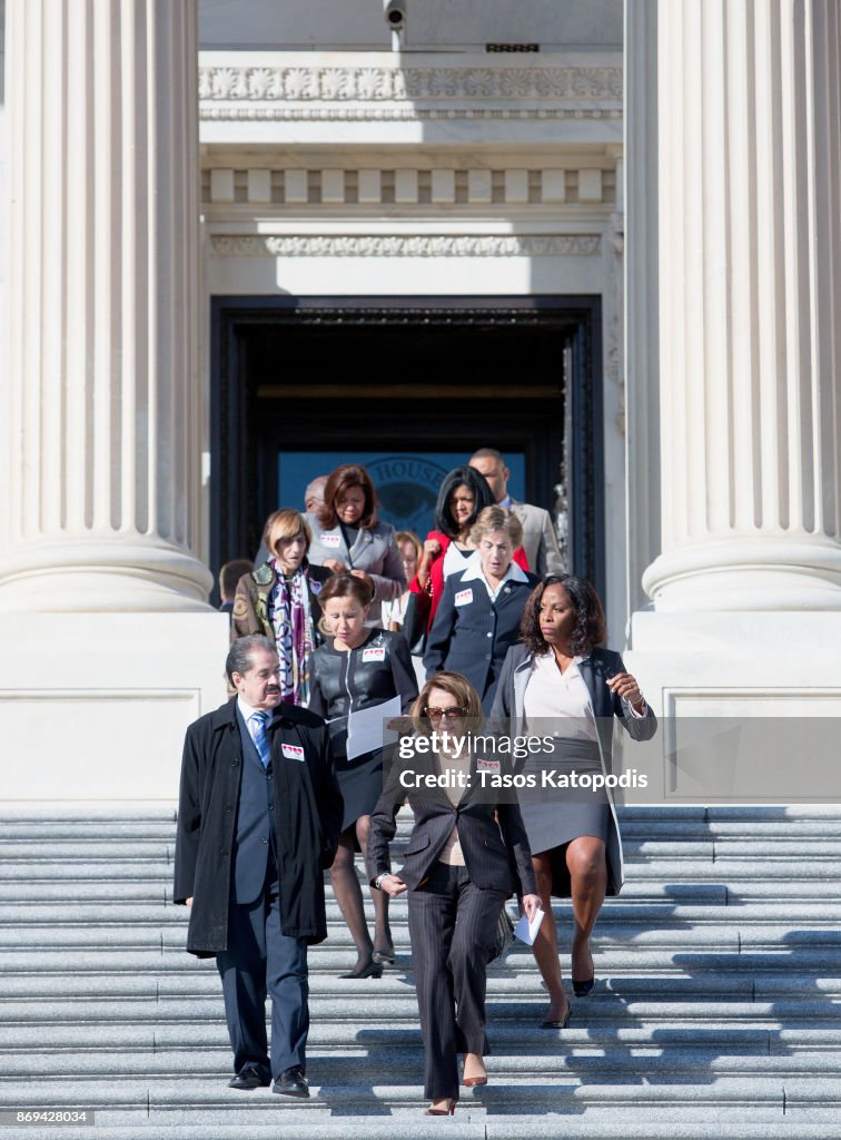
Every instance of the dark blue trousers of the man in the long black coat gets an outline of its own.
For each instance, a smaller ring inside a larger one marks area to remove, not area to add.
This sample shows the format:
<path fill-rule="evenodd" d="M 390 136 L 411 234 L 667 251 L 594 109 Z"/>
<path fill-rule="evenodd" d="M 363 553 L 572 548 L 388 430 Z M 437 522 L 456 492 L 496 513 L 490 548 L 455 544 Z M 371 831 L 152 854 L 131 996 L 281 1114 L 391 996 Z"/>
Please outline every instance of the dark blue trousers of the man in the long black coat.
<path fill-rule="evenodd" d="M 300 1065 L 307 1072 L 310 1028 L 307 942 L 280 929 L 280 898 L 263 890 L 253 903 L 231 903 L 228 948 L 217 954 L 234 1070 L 255 1065 L 267 1077 Z M 271 995 L 271 1062 L 266 995 Z"/>

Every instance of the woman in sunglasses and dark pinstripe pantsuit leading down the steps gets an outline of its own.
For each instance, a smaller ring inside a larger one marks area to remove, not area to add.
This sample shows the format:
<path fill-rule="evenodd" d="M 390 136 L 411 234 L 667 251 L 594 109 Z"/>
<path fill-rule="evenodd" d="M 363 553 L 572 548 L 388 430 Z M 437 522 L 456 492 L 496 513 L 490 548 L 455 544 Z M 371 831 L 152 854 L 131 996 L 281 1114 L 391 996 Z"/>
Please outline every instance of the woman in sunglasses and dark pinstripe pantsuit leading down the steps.
<path fill-rule="evenodd" d="M 427 681 L 411 708 L 416 735 L 401 740 L 403 757 L 403 746 L 414 740 L 413 757 L 394 760 L 370 816 L 371 885 L 392 898 L 408 891 L 431 1116 L 455 1112 L 458 1053 L 464 1053 L 464 1083 L 487 1084 L 485 971 L 499 913 L 513 890 L 530 919 L 540 905 L 516 803 L 497 803 L 497 793 L 482 792 L 481 762 L 464 747 L 481 716 L 479 694 L 464 677 L 439 673 Z M 415 826 L 403 865 L 392 874 L 389 841 L 407 797 Z"/>

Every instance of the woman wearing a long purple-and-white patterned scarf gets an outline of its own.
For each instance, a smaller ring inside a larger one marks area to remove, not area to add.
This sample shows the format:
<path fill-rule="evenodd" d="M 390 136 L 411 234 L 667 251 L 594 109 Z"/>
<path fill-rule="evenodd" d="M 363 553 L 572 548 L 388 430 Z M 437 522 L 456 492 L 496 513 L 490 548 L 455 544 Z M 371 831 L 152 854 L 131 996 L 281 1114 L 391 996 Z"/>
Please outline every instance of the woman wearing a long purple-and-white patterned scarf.
<path fill-rule="evenodd" d="M 310 701 L 312 653 L 321 643 L 318 595 L 332 571 L 307 561 L 312 531 L 299 511 L 285 507 L 270 514 L 263 542 L 269 561 L 244 575 L 237 585 L 231 641 L 247 634 L 270 637 L 280 659 L 283 699 L 305 706 Z"/>

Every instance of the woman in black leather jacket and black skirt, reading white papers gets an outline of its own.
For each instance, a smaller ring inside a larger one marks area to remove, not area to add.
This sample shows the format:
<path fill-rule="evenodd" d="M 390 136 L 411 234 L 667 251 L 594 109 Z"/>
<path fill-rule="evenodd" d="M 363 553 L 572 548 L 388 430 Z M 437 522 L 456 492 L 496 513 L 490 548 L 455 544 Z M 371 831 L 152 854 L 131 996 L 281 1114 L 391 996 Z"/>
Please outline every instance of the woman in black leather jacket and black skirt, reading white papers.
<path fill-rule="evenodd" d="M 378 978 L 383 962 L 394 961 L 387 895 L 371 890 L 375 915 L 371 940 L 353 865 L 357 850 L 361 850 L 362 857 L 366 855 L 370 813 L 383 791 L 383 749 L 375 748 L 349 759 L 349 717 L 395 697 L 406 712 L 417 697 L 415 669 L 403 635 L 365 625 L 370 601 L 371 589 L 364 578 L 349 573 L 332 577 L 319 602 L 333 640 L 312 654 L 310 708 L 328 722 L 344 797 L 342 833 L 330 880 L 358 954 L 354 968 L 343 975 L 346 978 Z"/>

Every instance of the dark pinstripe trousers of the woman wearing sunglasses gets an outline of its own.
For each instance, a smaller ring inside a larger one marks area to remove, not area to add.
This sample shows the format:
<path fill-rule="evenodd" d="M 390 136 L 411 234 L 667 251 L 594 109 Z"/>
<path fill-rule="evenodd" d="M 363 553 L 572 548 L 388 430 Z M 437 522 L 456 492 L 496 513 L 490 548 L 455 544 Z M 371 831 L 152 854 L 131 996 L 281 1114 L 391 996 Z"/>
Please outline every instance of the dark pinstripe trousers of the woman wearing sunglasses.
<path fill-rule="evenodd" d="M 424 1093 L 458 1098 L 458 1054 L 490 1052 L 484 1032 L 488 962 L 501 890 L 480 890 L 463 866 L 436 863 L 408 893 L 411 962 L 424 1040 Z"/>

